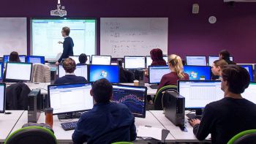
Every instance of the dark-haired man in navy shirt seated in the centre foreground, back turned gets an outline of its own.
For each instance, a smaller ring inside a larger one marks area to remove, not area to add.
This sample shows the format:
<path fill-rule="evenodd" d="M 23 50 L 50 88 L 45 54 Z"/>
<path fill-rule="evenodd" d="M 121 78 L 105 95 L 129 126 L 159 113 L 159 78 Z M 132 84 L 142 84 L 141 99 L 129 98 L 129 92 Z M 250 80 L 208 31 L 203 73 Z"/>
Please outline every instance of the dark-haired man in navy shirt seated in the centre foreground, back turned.
<path fill-rule="evenodd" d="M 74 143 L 114 143 L 136 139 L 135 118 L 126 105 L 110 102 L 113 86 L 106 79 L 91 88 L 94 107 L 83 113 L 72 134 Z"/>

